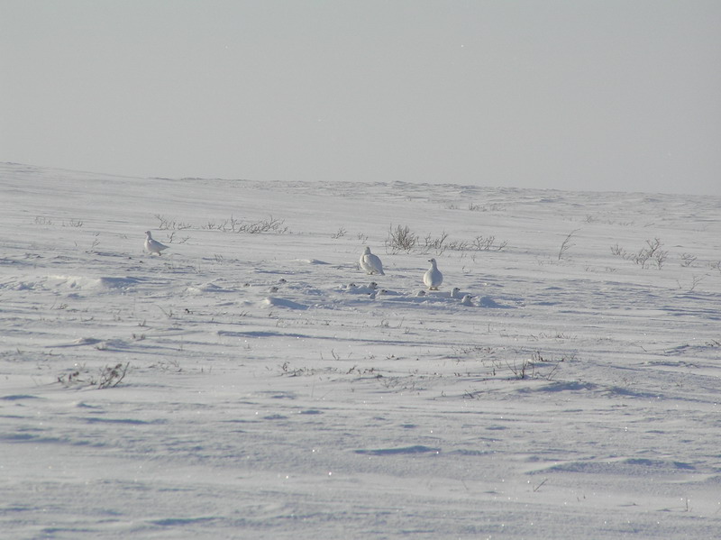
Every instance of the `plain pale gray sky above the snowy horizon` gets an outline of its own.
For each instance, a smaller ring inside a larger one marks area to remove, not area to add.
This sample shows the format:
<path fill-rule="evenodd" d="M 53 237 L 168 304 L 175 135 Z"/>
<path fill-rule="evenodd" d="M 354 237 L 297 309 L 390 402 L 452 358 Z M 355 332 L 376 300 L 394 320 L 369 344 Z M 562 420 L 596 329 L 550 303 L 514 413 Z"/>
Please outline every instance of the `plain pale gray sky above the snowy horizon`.
<path fill-rule="evenodd" d="M 0 0 L 0 160 L 721 195 L 719 0 Z"/>

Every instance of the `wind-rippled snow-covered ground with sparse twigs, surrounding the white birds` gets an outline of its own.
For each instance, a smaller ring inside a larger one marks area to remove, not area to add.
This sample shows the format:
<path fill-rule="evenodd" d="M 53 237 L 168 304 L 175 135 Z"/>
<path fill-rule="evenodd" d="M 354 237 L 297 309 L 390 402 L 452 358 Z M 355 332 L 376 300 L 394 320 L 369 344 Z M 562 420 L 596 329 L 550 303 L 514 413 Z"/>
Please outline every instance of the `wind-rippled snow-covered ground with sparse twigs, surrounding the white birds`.
<path fill-rule="evenodd" d="M 718 197 L 5 163 L 0 201 L 3 538 L 718 537 Z"/>

